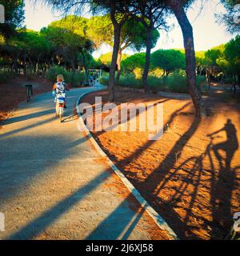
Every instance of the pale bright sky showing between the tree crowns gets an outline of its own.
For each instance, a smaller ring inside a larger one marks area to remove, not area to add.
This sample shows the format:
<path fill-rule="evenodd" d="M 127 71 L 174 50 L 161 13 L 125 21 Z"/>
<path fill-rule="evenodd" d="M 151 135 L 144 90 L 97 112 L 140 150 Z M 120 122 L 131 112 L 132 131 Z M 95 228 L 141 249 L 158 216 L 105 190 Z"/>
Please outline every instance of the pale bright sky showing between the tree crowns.
<path fill-rule="evenodd" d="M 26 28 L 31 30 L 41 30 L 42 27 L 48 26 L 50 22 L 61 18 L 61 10 L 58 13 L 54 13 L 50 10 L 50 7 L 42 5 L 41 1 L 37 1 L 34 5 L 33 0 L 26 0 Z M 209 50 L 214 46 L 218 46 L 222 43 L 230 41 L 233 36 L 227 34 L 225 27 L 215 22 L 214 14 L 224 12 L 223 6 L 218 0 L 197 0 L 190 10 L 187 12 L 187 16 L 194 30 L 194 43 L 195 50 Z M 89 16 L 88 14 L 84 15 Z M 182 49 L 183 39 L 182 31 L 178 26 L 176 18 L 170 18 L 170 24 L 174 25 L 174 28 L 166 33 L 160 30 L 160 38 L 154 50 L 158 49 Z M 110 52 L 110 46 L 102 46 L 98 51 L 94 52 L 94 58 L 98 58 L 101 54 Z M 126 54 L 133 54 L 132 50 L 126 50 Z"/>

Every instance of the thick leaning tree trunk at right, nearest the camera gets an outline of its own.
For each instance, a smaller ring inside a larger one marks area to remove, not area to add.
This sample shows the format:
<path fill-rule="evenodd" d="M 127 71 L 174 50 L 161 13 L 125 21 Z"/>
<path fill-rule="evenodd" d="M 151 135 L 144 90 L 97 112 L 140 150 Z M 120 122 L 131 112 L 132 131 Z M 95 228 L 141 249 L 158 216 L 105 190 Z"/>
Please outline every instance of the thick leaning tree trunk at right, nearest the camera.
<path fill-rule="evenodd" d="M 177 0 L 169 0 L 167 2 L 174 11 L 176 18 L 178 19 L 178 23 L 182 29 L 184 48 L 186 52 L 186 81 L 190 96 L 194 103 L 196 115 L 197 117 L 206 116 L 206 110 L 202 101 L 202 95 L 196 86 L 196 61 L 192 26 L 188 18 L 186 17 L 182 2 Z"/>

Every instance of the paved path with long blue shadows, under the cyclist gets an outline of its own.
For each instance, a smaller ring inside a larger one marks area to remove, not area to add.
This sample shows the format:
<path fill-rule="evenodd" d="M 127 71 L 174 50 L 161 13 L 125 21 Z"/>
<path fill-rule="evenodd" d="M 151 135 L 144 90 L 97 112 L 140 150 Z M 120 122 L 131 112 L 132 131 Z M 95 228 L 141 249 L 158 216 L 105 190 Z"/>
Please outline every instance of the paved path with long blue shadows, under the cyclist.
<path fill-rule="evenodd" d="M 0 239 L 167 238 L 78 131 L 72 114 L 87 90 L 70 91 L 62 124 L 47 93 L 0 130 Z"/>

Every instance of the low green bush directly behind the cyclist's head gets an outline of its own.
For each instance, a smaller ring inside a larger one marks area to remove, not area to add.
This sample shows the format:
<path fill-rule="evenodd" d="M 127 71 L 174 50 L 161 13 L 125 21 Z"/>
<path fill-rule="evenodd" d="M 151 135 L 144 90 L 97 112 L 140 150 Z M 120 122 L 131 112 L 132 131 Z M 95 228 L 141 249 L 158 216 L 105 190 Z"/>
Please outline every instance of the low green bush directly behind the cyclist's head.
<path fill-rule="evenodd" d="M 85 80 L 85 73 L 76 71 L 70 72 L 65 70 L 62 66 L 53 66 L 46 72 L 46 78 L 51 82 L 56 82 L 58 74 L 62 74 L 65 81 L 71 86 L 82 86 Z"/>

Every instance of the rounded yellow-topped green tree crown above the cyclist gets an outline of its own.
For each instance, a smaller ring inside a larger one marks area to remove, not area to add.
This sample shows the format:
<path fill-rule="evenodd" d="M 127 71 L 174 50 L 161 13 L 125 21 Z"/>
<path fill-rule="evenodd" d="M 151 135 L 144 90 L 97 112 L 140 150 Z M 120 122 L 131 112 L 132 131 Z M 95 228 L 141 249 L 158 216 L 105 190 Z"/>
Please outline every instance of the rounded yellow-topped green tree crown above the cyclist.
<path fill-rule="evenodd" d="M 78 65 L 87 69 L 94 62 L 90 56 L 94 45 L 86 35 L 87 21 L 87 18 L 70 15 L 41 30 L 51 43 L 58 64 L 65 62 L 75 70 Z"/>

